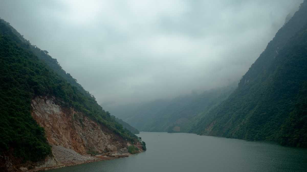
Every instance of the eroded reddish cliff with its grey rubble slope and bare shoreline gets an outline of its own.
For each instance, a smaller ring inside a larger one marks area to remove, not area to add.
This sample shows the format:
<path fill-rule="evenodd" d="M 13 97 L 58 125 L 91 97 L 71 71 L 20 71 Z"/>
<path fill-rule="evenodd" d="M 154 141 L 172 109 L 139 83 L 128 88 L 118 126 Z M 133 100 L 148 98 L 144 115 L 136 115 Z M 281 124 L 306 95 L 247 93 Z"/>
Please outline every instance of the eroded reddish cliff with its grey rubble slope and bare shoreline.
<path fill-rule="evenodd" d="M 128 156 L 129 141 L 118 136 L 72 107 L 63 107 L 55 97 L 37 96 L 31 102 L 31 115 L 45 129 L 52 155 L 40 162 L 19 162 L 12 155 L 5 158 L 9 171 L 71 165 Z M 142 144 L 134 146 L 142 150 Z M 95 156 L 96 155 L 96 156 Z"/>

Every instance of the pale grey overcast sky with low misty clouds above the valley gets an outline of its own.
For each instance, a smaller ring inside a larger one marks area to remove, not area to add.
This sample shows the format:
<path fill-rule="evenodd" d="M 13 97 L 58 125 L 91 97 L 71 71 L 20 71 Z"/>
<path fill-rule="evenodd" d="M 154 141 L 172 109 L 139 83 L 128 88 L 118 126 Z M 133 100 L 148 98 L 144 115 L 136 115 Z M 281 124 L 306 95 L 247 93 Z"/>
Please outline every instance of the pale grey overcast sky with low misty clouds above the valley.
<path fill-rule="evenodd" d="M 0 17 L 115 105 L 239 80 L 301 2 L 0 0 Z"/>

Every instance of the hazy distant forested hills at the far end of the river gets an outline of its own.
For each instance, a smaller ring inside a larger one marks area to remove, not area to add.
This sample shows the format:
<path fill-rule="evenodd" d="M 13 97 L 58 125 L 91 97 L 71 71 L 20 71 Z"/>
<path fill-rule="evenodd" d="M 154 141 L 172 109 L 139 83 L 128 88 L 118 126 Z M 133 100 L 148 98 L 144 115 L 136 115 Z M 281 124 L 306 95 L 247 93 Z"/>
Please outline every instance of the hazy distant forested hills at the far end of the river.
<path fill-rule="evenodd" d="M 193 93 L 170 100 L 159 99 L 142 105 L 116 108 L 117 111 L 114 111 L 116 116 L 126 117 L 128 123 L 142 131 L 189 132 L 196 121 L 226 99 L 236 86 L 237 83 L 233 83 L 201 94 Z M 173 130 L 174 127 L 179 131 Z"/>

